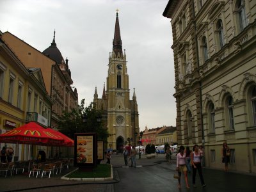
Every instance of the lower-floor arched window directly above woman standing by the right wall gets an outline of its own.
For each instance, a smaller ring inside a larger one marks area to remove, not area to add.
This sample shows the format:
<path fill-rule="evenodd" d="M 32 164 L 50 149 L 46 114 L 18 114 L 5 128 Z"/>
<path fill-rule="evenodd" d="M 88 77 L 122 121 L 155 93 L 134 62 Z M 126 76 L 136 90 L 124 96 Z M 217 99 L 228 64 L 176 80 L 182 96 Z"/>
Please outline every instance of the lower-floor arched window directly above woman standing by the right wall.
<path fill-rule="evenodd" d="M 233 98 L 232 98 L 231 95 L 229 95 L 226 99 L 225 111 L 226 111 L 227 128 L 229 130 L 234 130 L 235 129 L 235 125 L 234 125 L 234 103 L 233 103 Z"/>

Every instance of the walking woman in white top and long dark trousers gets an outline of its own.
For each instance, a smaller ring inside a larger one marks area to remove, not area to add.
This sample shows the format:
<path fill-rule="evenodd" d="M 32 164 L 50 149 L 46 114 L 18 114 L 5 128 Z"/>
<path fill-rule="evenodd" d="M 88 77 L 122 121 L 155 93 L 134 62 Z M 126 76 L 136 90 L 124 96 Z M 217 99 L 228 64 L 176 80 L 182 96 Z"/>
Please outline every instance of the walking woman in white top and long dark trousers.
<path fill-rule="evenodd" d="M 196 170 L 198 170 L 198 174 L 200 177 L 200 181 L 202 184 L 202 187 L 205 188 L 204 183 L 204 177 L 202 173 L 202 165 L 201 165 L 201 158 L 200 158 L 200 152 L 198 150 L 198 145 L 194 145 L 193 152 L 191 153 L 191 163 L 193 168 L 193 187 L 196 188 Z"/>

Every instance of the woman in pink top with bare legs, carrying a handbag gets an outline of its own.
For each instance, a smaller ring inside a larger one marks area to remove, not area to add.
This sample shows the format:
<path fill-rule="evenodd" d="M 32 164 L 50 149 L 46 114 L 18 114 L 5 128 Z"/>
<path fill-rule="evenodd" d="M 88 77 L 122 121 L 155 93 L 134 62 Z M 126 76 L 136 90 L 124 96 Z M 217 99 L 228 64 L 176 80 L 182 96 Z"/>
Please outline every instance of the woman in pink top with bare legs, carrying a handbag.
<path fill-rule="evenodd" d="M 178 188 L 181 189 L 180 186 L 180 177 L 181 177 L 181 172 L 184 173 L 184 178 L 186 182 L 186 188 L 189 189 L 188 185 L 188 174 L 187 174 L 187 167 L 186 167 L 186 152 L 184 152 L 185 148 L 183 145 L 180 146 L 179 149 L 179 154 L 177 154 L 177 163 L 176 163 L 176 171 L 179 173 L 179 185 Z"/>

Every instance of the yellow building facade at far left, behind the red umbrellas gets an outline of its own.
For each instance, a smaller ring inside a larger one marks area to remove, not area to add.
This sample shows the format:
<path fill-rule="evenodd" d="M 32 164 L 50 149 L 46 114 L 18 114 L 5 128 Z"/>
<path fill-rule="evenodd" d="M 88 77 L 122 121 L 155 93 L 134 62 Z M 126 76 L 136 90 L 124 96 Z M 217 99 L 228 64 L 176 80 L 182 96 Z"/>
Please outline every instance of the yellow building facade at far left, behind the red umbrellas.
<path fill-rule="evenodd" d="M 1 133 L 30 121 L 50 125 L 51 97 L 47 94 L 40 68 L 26 68 L 3 40 L 0 32 L 0 130 Z M 31 145 L 1 143 L 13 147 L 15 160 L 36 156 Z"/>

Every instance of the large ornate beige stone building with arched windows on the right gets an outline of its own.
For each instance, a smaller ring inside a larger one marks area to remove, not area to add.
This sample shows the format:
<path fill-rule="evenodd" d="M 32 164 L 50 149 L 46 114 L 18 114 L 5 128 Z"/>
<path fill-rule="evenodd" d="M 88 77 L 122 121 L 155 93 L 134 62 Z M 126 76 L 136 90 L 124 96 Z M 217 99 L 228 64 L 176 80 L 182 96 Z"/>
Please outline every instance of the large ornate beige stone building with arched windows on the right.
<path fill-rule="evenodd" d="M 179 145 L 205 147 L 205 165 L 256 173 L 256 1 L 169 0 Z"/>

